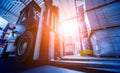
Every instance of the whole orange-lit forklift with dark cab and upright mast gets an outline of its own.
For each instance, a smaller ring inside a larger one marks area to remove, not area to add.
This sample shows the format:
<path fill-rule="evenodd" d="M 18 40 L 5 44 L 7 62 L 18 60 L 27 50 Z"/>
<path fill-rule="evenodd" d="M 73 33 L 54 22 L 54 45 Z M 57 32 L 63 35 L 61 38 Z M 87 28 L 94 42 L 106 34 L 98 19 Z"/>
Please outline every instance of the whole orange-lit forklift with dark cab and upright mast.
<path fill-rule="evenodd" d="M 21 12 L 16 23 L 17 39 L 15 40 L 16 61 L 48 62 L 59 56 L 58 7 L 52 0 L 44 0 L 40 7 L 32 0 Z"/>

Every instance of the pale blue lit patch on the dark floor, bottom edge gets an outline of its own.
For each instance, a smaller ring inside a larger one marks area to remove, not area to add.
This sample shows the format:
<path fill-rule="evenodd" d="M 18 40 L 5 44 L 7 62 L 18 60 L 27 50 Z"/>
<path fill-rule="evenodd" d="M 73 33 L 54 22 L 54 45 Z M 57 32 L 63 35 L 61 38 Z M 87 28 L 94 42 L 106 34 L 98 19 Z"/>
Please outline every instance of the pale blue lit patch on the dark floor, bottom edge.
<path fill-rule="evenodd" d="M 33 68 L 31 70 L 26 70 L 22 73 L 85 73 L 85 72 L 45 65 Z"/>

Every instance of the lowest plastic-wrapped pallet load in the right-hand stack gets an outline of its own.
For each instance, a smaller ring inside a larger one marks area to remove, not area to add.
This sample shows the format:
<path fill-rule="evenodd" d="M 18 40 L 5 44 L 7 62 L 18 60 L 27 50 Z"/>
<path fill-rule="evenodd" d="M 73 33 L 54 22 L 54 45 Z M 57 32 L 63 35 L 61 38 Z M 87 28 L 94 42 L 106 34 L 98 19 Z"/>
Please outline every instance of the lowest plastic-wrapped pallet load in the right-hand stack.
<path fill-rule="evenodd" d="M 91 42 L 95 56 L 120 56 L 120 27 L 95 31 Z"/>

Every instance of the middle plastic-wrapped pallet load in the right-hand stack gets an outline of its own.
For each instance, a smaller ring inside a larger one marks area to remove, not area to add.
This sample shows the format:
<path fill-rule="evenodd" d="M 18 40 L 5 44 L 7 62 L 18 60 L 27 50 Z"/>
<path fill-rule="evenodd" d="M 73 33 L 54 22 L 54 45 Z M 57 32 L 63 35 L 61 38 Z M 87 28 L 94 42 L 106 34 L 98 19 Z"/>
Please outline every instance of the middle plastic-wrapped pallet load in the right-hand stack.
<path fill-rule="evenodd" d="M 88 33 L 92 30 L 120 26 L 120 2 L 86 12 L 89 23 Z"/>

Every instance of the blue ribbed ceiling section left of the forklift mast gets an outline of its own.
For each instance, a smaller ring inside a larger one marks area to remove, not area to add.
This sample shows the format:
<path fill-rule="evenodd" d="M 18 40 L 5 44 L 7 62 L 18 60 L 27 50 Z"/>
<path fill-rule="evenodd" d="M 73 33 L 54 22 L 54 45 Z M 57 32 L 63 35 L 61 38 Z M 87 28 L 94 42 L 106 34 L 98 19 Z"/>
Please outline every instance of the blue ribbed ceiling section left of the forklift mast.
<path fill-rule="evenodd" d="M 0 16 L 9 23 L 15 24 L 20 11 L 32 0 L 0 0 Z M 41 3 L 43 0 L 35 0 Z"/>

